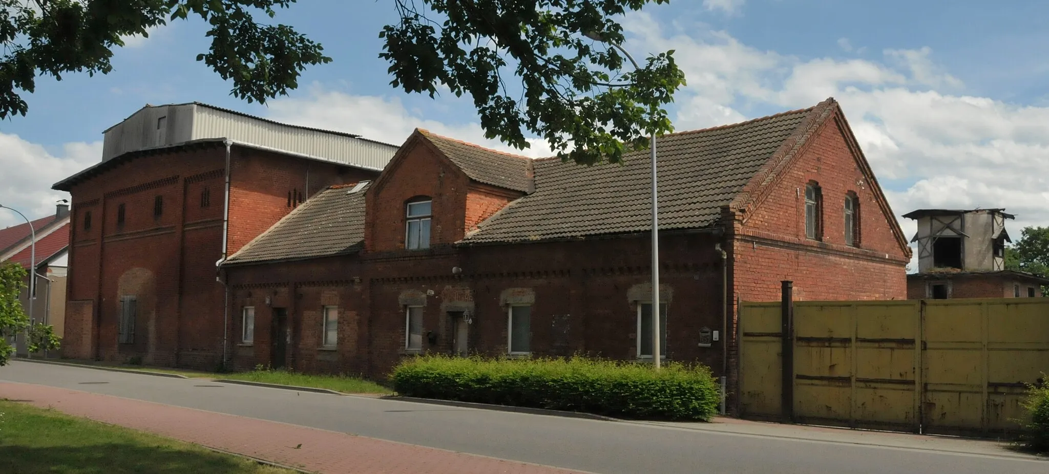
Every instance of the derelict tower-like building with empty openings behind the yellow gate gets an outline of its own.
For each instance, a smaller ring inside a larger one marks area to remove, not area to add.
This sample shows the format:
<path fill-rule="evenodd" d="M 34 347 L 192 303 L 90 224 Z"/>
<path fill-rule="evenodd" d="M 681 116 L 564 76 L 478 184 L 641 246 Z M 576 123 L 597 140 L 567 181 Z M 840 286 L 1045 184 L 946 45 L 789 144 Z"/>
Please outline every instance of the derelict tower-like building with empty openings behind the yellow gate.
<path fill-rule="evenodd" d="M 919 209 L 903 217 L 918 221 L 918 273 L 907 275 L 907 298 L 1034 298 L 1049 279 L 1005 270 L 1011 242 L 1004 209 Z"/>

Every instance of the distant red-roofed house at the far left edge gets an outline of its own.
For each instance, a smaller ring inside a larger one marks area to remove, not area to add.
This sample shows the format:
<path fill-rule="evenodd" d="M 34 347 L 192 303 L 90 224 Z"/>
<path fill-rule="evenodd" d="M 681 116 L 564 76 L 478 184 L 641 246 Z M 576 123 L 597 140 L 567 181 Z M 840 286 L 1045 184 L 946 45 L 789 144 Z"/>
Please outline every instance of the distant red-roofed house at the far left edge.
<path fill-rule="evenodd" d="M 34 323 L 50 324 L 55 333 L 64 336 L 66 260 L 69 247 L 69 206 L 58 204 L 55 215 L 33 221 L 36 232 L 36 295 L 29 290 L 28 273 L 34 261 L 34 245 L 28 223 L 0 230 L 0 264 L 16 262 L 27 272 L 25 288 L 19 295 L 22 309 Z M 33 304 L 29 299 L 34 298 Z M 31 306 L 31 313 L 30 313 Z M 16 341 L 16 350 L 25 356 L 24 338 Z"/>

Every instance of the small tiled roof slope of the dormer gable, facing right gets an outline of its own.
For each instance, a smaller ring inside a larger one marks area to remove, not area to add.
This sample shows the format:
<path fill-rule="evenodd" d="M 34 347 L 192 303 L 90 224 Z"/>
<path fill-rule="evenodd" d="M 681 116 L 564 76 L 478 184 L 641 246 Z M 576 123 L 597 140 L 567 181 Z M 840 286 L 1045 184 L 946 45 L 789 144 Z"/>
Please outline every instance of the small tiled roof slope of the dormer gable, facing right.
<path fill-rule="evenodd" d="M 532 159 L 419 130 L 470 179 L 527 193 L 532 190 Z"/>

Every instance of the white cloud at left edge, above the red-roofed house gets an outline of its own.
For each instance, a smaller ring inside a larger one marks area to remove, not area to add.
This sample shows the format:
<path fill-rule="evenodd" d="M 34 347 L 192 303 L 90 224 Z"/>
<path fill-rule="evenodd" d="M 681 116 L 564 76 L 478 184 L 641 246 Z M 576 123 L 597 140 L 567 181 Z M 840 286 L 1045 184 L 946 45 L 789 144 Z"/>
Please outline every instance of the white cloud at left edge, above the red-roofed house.
<path fill-rule="evenodd" d="M 101 158 L 102 142 L 66 144 L 56 156 L 18 135 L 0 133 L 0 170 L 4 170 L 0 204 L 17 209 L 29 219 L 53 214 L 57 201 L 68 199 L 69 194 L 52 191 L 51 185 Z M 24 220 L 17 214 L 0 210 L 0 228 L 20 222 Z"/>

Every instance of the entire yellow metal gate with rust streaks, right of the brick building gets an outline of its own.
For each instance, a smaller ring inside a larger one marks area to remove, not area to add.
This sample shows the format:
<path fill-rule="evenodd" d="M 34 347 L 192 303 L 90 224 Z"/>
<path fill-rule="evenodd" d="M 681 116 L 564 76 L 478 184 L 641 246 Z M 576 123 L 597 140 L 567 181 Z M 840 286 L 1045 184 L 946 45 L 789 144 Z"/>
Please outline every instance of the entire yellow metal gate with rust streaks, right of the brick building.
<path fill-rule="evenodd" d="M 785 345 L 780 303 L 741 307 L 744 417 L 1007 432 L 1022 416 L 1025 383 L 1049 372 L 1049 300 L 797 302 L 792 309 Z M 792 354 L 788 378 L 784 351 Z"/>

